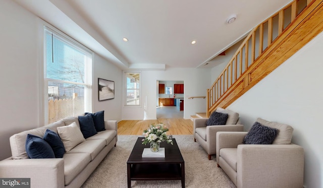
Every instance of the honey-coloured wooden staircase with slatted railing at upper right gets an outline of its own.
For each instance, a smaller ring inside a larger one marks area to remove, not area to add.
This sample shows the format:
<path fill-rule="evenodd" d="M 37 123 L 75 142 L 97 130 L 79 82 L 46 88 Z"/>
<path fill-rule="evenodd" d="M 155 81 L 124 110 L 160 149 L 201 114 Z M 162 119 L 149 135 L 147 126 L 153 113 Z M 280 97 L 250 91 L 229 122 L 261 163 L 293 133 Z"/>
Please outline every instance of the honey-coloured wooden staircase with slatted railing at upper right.
<path fill-rule="evenodd" d="M 206 116 L 229 106 L 322 32 L 322 2 L 294 0 L 253 28 L 207 90 Z"/>

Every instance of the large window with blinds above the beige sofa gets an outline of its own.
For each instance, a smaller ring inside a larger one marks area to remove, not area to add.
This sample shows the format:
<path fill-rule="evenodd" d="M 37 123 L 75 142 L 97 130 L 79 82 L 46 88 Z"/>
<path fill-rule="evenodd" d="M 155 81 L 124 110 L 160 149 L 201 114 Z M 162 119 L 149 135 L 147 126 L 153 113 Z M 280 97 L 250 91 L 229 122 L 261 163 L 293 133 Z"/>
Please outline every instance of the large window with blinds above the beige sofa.
<path fill-rule="evenodd" d="M 93 53 L 68 36 L 44 28 L 47 123 L 92 111 Z"/>

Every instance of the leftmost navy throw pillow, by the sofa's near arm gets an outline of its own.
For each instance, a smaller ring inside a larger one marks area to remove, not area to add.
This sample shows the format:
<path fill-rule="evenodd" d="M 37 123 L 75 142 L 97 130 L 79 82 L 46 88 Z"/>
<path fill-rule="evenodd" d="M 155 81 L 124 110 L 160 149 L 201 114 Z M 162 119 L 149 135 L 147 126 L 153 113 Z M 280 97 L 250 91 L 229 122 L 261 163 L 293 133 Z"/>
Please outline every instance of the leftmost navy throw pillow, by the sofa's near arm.
<path fill-rule="evenodd" d="M 31 159 L 55 158 L 55 154 L 49 144 L 35 135 L 27 135 L 25 147 L 27 155 Z"/>

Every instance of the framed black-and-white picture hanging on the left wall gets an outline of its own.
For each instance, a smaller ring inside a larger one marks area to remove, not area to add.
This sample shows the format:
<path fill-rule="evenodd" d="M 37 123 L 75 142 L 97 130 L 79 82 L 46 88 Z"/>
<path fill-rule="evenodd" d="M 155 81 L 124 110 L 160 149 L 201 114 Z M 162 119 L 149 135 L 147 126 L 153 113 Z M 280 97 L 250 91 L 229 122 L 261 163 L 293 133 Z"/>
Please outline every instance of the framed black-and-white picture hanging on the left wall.
<path fill-rule="evenodd" d="M 97 79 L 97 93 L 99 101 L 110 100 L 115 98 L 115 82 L 105 80 L 102 78 Z"/>

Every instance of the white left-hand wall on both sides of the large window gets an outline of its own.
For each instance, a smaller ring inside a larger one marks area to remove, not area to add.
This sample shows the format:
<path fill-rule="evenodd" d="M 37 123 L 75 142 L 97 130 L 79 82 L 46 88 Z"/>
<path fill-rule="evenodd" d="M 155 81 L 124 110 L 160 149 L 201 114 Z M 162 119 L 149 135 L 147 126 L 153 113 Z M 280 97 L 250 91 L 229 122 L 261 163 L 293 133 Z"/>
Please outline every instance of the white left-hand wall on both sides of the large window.
<path fill-rule="evenodd" d="M 41 104 L 42 58 L 38 41 L 39 18 L 13 1 L 0 6 L 0 160 L 11 156 L 9 137 L 44 126 Z M 121 70 L 98 55 L 94 58 L 93 111 L 105 110 L 105 119 L 121 120 Z M 116 98 L 98 102 L 97 78 L 116 82 Z"/>

